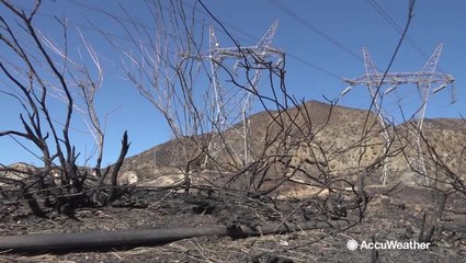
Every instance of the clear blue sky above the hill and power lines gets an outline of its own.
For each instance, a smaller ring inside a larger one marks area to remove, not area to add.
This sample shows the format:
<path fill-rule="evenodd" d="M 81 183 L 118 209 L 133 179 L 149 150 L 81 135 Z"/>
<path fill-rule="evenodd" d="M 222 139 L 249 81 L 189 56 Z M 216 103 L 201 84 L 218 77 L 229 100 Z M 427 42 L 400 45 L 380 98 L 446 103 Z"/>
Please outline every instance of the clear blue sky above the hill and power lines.
<path fill-rule="evenodd" d="M 31 2 L 18 1 L 23 7 L 30 5 Z M 120 139 L 126 129 L 132 141 L 128 156 L 169 140 L 171 138 L 170 130 L 162 116 L 138 94 L 132 84 L 122 80 L 122 72 L 112 61 L 113 56 L 110 52 L 112 49 L 89 25 L 91 22 L 113 35 L 123 36 L 123 32 L 115 30 L 117 26 L 112 24 L 113 21 L 95 11 L 101 8 L 115 15 L 122 15 L 116 2 L 113 0 L 44 0 L 43 2 L 43 8 L 36 18 L 37 26 L 43 32 L 50 37 L 58 37 L 60 27 L 52 16 L 67 16 L 71 24 L 81 28 L 95 47 L 96 53 L 103 57 L 105 82 L 96 98 L 98 110 L 102 114 L 112 112 L 107 117 L 104 164 L 112 163 L 116 159 Z M 141 21 L 149 21 L 149 13 L 143 1 L 121 2 L 132 15 Z M 168 4 L 169 1 L 162 0 L 161 2 Z M 195 1 L 186 0 L 186 8 L 189 8 Z M 274 1 L 269 0 L 203 0 L 203 2 L 225 23 L 225 26 L 241 45 L 253 45 L 274 20 L 280 20 L 273 46 L 287 53 L 286 84 L 289 92 L 297 98 L 306 98 L 306 100 L 322 100 L 322 95 L 330 99 L 337 98 L 346 87 L 340 78 L 355 78 L 363 75 L 365 68 L 361 60 L 362 47 L 368 48 L 374 62 L 380 70 L 384 70 L 400 34 L 376 11 L 374 2 L 400 27 L 404 27 L 407 21 L 408 7 L 407 0 L 375 0 L 372 4 L 367 0 L 279 0 L 282 8 L 286 8 L 284 11 L 274 4 Z M 201 7 L 198 10 L 197 21 L 215 24 Z M 0 13 L 3 15 L 5 10 L 0 9 Z M 464 111 L 466 105 L 464 89 L 466 81 L 465 13 L 466 1 L 464 0 L 419 0 L 416 2 L 414 16 L 408 32 L 409 37 L 428 56 L 440 43 L 443 43 L 444 48 L 439 64 L 445 72 L 456 79 L 457 103 L 451 105 L 448 91 L 444 90 L 431 98 L 427 117 L 458 117 L 459 114 L 466 114 Z M 217 24 L 215 25 L 218 27 Z M 317 33 L 316 28 L 320 33 Z M 231 45 L 224 34 L 218 33 L 218 37 L 224 46 Z M 405 42 L 391 71 L 418 71 L 425 60 L 424 56 Z M 0 83 L 0 89 L 4 88 L 2 85 L 3 82 Z M 402 100 L 399 101 L 399 99 Z M 367 108 L 370 101 L 367 89 L 357 87 L 348 93 L 340 104 Z M 414 87 L 404 87 L 397 90 L 391 99 L 386 99 L 387 108 L 394 111 L 398 101 L 406 108 L 407 115 L 412 114 L 410 111 L 418 107 L 420 103 Z M 0 129 L 18 127 L 20 112 L 18 104 L 3 94 L 0 94 L 0 103 L 2 119 Z M 75 125 L 77 129 L 86 130 L 82 122 L 79 122 L 79 116 Z M 72 136 L 82 156 L 89 153 L 92 148 L 91 138 L 81 133 L 75 133 Z M 0 138 L 0 162 L 9 164 L 16 161 L 39 163 L 12 139 Z"/>

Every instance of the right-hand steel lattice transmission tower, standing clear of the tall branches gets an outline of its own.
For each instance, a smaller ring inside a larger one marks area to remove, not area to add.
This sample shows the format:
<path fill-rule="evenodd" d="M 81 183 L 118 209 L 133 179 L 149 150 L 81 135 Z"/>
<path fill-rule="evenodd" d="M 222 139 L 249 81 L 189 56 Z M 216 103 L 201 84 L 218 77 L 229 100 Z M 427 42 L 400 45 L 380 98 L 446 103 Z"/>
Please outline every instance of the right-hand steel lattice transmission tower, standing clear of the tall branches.
<path fill-rule="evenodd" d="M 384 152 L 388 150 L 388 146 L 390 144 L 390 135 L 387 128 L 387 123 L 391 123 L 393 117 L 384 110 L 383 100 L 384 95 L 389 94 L 395 89 L 397 89 L 401 84 L 414 84 L 417 87 L 418 93 L 421 99 L 421 105 L 419 110 L 413 115 L 413 122 L 416 124 L 416 133 L 413 136 L 416 137 L 416 155 L 414 159 L 411 160 L 411 165 L 424 176 L 425 182 L 428 182 L 425 164 L 422 158 L 422 149 L 421 149 L 421 132 L 422 124 L 424 121 L 425 108 L 429 101 L 429 95 L 434 94 L 445 88 L 448 84 L 452 87 L 452 103 L 455 102 L 454 87 L 453 83 L 455 79 L 447 73 L 436 71 L 437 62 L 440 58 L 440 54 L 442 53 L 443 45 L 440 44 L 432 56 L 429 58 L 424 67 L 421 71 L 416 72 L 388 72 L 384 76 L 377 71 L 372 58 L 367 52 L 367 48 L 363 48 L 364 64 L 366 73 L 357 77 L 355 79 L 344 79 L 343 81 L 349 84 L 342 92 L 341 96 L 346 94 L 355 85 L 366 85 L 371 93 L 371 98 L 374 103 L 373 111 L 377 115 L 377 118 L 383 128 L 383 137 L 384 137 Z M 431 89 L 431 84 L 439 84 L 439 87 Z M 386 89 L 383 89 L 384 85 L 389 85 Z M 384 170 L 382 174 L 382 183 L 385 184 L 387 180 L 387 171 L 388 163 L 384 160 Z"/>

